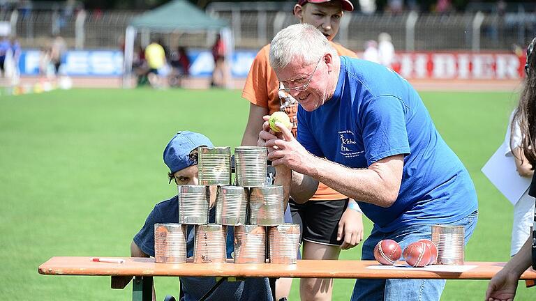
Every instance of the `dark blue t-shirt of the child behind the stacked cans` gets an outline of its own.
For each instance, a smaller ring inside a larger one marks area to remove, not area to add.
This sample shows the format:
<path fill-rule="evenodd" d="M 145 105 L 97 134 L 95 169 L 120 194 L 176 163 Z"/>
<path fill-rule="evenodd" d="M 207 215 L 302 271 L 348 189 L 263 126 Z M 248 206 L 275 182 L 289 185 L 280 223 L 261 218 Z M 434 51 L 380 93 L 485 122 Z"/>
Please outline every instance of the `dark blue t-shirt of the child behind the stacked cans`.
<path fill-rule="evenodd" d="M 210 222 L 214 222 L 215 210 L 210 210 Z M 154 224 L 179 222 L 179 202 L 177 196 L 168 201 L 163 201 L 154 206 L 143 228 L 134 236 L 135 244 L 149 256 L 154 256 Z M 194 227 L 188 226 L 188 238 L 186 239 L 187 256 L 193 256 Z M 227 227 L 227 258 L 232 258 L 234 251 L 234 228 Z M 204 263 L 200 263 L 204 264 Z M 237 263 L 238 264 L 238 263 Z M 184 293 L 184 301 L 200 300 L 214 284 L 214 277 L 179 277 Z M 270 286 L 267 278 L 247 278 L 245 281 L 224 281 L 207 300 L 236 300 L 236 301 L 271 301 Z"/>

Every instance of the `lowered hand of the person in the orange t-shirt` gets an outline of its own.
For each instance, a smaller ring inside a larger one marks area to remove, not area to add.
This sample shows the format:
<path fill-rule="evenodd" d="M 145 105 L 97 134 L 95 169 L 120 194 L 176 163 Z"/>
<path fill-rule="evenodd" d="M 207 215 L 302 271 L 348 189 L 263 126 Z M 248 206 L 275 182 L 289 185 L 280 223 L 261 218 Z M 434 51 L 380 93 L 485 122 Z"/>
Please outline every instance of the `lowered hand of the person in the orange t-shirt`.
<path fill-rule="evenodd" d="M 350 202 L 355 202 L 350 199 Z M 338 221 L 337 240 L 343 240 L 341 249 L 351 249 L 363 240 L 363 214 L 348 206 Z"/>

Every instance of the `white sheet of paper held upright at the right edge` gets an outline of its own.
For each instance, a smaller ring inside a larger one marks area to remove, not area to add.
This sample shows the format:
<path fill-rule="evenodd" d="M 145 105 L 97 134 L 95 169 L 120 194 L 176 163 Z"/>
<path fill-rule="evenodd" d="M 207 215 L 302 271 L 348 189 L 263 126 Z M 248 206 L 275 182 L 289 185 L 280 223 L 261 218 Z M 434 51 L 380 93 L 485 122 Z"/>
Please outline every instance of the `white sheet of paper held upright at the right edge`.
<path fill-rule="evenodd" d="M 514 205 L 530 186 L 530 178 L 519 176 L 514 157 L 506 156 L 503 143 L 482 167 L 482 173 Z"/>

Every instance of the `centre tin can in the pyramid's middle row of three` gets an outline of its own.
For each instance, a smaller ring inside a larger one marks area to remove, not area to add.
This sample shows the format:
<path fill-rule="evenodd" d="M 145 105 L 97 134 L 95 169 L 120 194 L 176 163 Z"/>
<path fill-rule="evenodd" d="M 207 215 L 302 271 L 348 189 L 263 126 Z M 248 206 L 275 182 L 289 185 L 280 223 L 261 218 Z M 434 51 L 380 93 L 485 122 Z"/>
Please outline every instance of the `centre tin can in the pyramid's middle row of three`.
<path fill-rule="evenodd" d="M 216 197 L 216 224 L 246 224 L 248 191 L 241 186 L 221 186 Z"/>

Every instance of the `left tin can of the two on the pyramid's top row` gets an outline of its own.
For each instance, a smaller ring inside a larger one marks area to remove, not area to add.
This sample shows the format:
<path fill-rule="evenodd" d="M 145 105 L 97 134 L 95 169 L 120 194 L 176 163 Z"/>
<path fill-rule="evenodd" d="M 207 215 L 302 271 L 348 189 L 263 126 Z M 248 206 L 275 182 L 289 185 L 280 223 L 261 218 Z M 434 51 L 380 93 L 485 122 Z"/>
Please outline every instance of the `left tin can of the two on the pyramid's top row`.
<path fill-rule="evenodd" d="M 231 184 L 231 148 L 207 146 L 198 147 L 199 184 L 230 185 Z"/>

